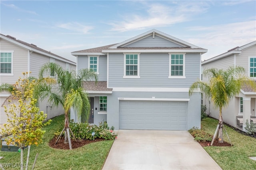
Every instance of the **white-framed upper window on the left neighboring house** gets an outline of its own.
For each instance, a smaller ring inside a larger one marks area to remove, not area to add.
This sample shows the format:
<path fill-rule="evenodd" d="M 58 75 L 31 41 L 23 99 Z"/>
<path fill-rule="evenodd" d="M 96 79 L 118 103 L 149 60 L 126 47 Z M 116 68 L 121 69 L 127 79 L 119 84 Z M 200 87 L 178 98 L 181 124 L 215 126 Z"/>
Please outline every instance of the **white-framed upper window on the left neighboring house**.
<path fill-rule="evenodd" d="M 14 51 L 0 51 L 0 75 L 13 76 Z"/>

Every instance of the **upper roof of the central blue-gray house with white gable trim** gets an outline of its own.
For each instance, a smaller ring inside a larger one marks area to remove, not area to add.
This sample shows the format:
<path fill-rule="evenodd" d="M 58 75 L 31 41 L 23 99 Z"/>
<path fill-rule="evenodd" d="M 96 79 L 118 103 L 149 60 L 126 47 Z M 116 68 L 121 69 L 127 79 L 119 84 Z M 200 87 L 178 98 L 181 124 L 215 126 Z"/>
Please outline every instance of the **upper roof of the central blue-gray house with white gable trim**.
<path fill-rule="evenodd" d="M 181 47 L 126 47 L 131 43 L 137 42 L 149 36 L 159 36 L 160 38 L 164 38 L 170 42 L 176 43 Z M 160 52 L 160 53 L 168 53 L 168 52 L 198 52 L 198 53 L 206 53 L 207 49 L 203 49 L 191 43 L 185 42 L 158 30 L 150 30 L 143 34 L 140 34 L 134 38 L 130 38 L 124 42 L 116 43 L 112 45 L 105 45 L 102 47 L 96 47 L 91 49 L 84 49 L 80 51 L 74 51 L 71 54 L 76 55 L 106 55 L 106 53 L 117 53 L 117 52 Z"/>

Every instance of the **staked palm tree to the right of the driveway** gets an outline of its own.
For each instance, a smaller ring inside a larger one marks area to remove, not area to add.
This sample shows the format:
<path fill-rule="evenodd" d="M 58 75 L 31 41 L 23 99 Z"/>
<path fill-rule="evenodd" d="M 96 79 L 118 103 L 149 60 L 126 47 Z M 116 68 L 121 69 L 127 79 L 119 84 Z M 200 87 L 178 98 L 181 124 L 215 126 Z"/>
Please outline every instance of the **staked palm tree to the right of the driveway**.
<path fill-rule="evenodd" d="M 255 82 L 244 75 L 244 71 L 244 68 L 240 66 L 232 66 L 227 70 L 218 70 L 216 68 L 206 69 L 204 70 L 204 76 L 209 77 L 209 82 L 196 81 L 189 88 L 189 95 L 200 89 L 206 97 L 211 99 L 214 107 L 219 108 L 219 123 L 212 138 L 211 145 L 215 137 L 218 137 L 219 142 L 223 143 L 222 108 L 226 107 L 230 100 L 238 95 L 242 85 L 247 84 L 253 88 L 256 87 Z"/>

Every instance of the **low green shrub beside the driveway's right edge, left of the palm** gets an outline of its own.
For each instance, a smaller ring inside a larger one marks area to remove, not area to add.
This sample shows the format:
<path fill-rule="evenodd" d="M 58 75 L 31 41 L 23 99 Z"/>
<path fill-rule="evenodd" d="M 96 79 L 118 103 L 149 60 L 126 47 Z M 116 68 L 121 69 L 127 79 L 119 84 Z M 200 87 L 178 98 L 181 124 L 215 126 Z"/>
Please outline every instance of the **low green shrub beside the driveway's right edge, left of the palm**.
<path fill-rule="evenodd" d="M 212 135 L 202 129 L 193 127 L 192 129 L 188 130 L 188 132 L 190 132 L 190 134 L 194 137 L 194 140 L 196 141 L 212 141 Z"/>

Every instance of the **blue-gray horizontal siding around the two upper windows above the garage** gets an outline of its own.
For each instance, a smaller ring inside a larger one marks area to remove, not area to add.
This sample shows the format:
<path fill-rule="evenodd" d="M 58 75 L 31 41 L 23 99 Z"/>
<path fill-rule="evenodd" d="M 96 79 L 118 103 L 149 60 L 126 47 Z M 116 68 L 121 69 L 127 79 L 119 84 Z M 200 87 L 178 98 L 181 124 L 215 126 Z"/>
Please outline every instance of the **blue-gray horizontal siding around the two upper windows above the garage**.
<path fill-rule="evenodd" d="M 124 79 L 124 54 L 109 54 L 109 87 L 190 87 L 200 77 L 200 54 L 187 53 L 186 79 L 168 79 L 168 53 L 140 53 L 140 79 Z"/>

